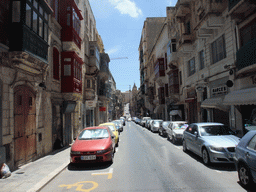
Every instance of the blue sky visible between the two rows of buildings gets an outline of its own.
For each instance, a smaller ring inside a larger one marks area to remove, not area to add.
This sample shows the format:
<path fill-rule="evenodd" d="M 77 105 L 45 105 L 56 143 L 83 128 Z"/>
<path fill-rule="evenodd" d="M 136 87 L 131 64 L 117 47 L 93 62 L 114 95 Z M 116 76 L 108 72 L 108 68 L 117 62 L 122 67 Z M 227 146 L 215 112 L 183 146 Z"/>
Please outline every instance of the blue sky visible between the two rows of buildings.
<path fill-rule="evenodd" d="M 116 59 L 109 63 L 116 88 L 128 91 L 134 83 L 140 87 L 138 47 L 147 17 L 166 17 L 166 7 L 177 0 L 89 0 L 96 28 L 105 52 Z"/>

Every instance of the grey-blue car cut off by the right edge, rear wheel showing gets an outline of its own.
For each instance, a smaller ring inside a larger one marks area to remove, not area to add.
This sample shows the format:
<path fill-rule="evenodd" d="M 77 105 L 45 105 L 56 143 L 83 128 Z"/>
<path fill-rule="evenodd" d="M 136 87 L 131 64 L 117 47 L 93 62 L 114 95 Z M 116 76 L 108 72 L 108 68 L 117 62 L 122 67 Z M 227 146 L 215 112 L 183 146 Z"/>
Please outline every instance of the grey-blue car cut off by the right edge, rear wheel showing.
<path fill-rule="evenodd" d="M 256 131 L 246 133 L 236 147 L 235 164 L 244 187 L 256 181 Z"/>

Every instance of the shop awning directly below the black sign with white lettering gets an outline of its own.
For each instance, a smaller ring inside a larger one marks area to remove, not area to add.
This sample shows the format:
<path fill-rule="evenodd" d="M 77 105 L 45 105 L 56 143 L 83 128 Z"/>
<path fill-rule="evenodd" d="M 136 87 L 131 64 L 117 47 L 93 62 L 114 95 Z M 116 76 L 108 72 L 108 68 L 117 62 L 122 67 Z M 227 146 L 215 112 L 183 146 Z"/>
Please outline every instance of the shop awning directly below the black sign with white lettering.
<path fill-rule="evenodd" d="M 220 109 L 222 111 L 228 111 L 228 106 L 223 105 L 223 97 L 216 97 L 216 98 L 209 98 L 205 99 L 201 103 L 202 108 L 215 108 L 215 109 Z"/>

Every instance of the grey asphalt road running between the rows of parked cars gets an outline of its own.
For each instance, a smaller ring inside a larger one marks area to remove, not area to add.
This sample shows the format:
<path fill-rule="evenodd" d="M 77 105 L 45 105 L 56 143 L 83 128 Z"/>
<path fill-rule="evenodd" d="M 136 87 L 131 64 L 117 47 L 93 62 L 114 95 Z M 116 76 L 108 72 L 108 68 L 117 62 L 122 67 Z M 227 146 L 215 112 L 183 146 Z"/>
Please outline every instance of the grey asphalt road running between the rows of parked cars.
<path fill-rule="evenodd" d="M 67 157 L 69 158 L 69 157 Z M 69 165 L 41 191 L 246 191 L 233 164 L 205 166 L 182 145 L 126 123 L 114 163 Z"/>

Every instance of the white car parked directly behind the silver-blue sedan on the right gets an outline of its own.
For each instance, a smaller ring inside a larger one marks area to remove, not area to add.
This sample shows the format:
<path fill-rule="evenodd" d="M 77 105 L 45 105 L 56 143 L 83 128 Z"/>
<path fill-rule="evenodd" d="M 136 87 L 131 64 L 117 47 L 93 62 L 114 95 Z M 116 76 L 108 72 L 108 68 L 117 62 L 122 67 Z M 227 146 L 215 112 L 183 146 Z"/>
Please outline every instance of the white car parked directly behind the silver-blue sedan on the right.
<path fill-rule="evenodd" d="M 167 128 L 167 139 L 172 143 L 182 141 L 183 132 L 187 127 L 186 121 L 172 121 Z"/>

